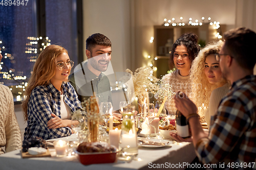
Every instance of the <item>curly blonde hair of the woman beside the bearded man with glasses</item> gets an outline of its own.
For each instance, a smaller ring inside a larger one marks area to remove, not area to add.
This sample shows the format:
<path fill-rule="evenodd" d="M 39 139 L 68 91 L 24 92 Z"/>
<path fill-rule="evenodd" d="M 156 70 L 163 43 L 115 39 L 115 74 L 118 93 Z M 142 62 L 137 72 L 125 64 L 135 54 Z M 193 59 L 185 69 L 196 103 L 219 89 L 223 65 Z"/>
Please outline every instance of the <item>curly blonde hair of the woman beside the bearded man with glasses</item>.
<path fill-rule="evenodd" d="M 223 86 L 227 81 L 221 79 L 216 84 L 210 84 L 204 73 L 205 59 L 210 54 L 219 53 L 223 42 L 211 42 L 207 44 L 198 54 L 191 65 L 190 80 L 193 84 L 192 92 L 194 93 L 194 101 L 197 107 L 209 106 L 210 94 L 212 90 Z M 203 110 L 202 110 L 203 111 Z"/>

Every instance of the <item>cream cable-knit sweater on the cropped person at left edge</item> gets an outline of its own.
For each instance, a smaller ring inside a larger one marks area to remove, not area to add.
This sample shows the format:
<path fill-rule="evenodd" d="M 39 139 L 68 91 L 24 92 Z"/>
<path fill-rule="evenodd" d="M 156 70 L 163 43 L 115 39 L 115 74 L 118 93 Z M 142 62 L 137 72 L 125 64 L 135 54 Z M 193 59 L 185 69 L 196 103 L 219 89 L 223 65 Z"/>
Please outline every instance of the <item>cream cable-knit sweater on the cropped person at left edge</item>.
<path fill-rule="evenodd" d="M 22 135 L 14 113 L 11 90 L 0 84 L 0 155 L 22 148 Z M 5 147 L 5 151 L 2 149 Z"/>

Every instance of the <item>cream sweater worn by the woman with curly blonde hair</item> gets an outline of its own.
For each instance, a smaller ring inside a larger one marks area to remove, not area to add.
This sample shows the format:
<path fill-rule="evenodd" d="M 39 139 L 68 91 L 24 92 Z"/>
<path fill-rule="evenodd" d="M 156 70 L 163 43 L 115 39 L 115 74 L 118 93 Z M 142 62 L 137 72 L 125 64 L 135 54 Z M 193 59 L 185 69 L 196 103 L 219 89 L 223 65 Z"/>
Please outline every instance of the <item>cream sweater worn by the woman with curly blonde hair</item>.
<path fill-rule="evenodd" d="M 210 117 L 217 114 L 217 109 L 222 98 L 228 93 L 228 85 L 225 84 L 222 87 L 214 89 L 210 94 L 209 107 L 205 112 L 205 122 L 207 123 L 208 129 L 210 129 Z"/>

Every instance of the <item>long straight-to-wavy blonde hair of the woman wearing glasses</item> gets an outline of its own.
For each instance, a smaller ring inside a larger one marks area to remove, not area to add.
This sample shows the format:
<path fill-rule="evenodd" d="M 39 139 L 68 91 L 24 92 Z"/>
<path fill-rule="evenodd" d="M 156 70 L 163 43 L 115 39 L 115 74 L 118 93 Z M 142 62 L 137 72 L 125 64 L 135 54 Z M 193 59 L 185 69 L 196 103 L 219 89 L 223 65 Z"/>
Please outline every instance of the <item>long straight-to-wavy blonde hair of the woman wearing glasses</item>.
<path fill-rule="evenodd" d="M 24 93 L 26 99 L 22 103 L 22 109 L 25 120 L 28 120 L 28 103 L 32 90 L 36 86 L 46 86 L 50 82 L 56 71 L 55 59 L 62 53 L 68 54 L 68 51 L 59 45 L 49 45 L 38 56 L 28 82 L 28 87 Z"/>

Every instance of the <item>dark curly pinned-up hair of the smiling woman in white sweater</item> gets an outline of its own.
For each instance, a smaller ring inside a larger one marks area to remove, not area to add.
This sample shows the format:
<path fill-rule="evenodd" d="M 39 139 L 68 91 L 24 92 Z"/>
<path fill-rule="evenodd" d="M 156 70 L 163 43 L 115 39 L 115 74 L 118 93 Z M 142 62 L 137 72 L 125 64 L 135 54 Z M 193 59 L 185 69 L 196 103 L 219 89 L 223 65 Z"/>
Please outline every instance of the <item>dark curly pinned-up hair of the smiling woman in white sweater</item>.
<path fill-rule="evenodd" d="M 177 69 L 174 64 L 174 52 L 178 45 L 185 45 L 189 60 L 192 62 L 200 51 L 200 46 L 197 44 L 198 36 L 194 33 L 186 33 L 181 35 L 173 44 L 172 52 L 170 53 L 169 67 L 171 70 Z"/>

